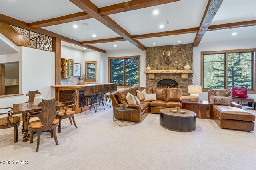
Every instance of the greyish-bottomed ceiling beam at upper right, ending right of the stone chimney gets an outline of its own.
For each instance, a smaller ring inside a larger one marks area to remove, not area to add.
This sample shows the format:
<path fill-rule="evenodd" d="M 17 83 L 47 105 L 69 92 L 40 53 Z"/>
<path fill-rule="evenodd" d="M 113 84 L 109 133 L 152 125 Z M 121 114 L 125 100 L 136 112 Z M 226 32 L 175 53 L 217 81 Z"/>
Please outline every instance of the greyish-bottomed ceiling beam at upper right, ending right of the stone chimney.
<path fill-rule="evenodd" d="M 199 26 L 199 31 L 196 33 L 196 38 L 194 39 L 193 46 L 197 47 L 202 40 L 204 34 L 206 33 L 210 23 L 212 22 L 215 14 L 217 13 L 220 5 L 222 4 L 223 0 L 209 0 L 204 11 L 204 15 L 202 21 Z"/>

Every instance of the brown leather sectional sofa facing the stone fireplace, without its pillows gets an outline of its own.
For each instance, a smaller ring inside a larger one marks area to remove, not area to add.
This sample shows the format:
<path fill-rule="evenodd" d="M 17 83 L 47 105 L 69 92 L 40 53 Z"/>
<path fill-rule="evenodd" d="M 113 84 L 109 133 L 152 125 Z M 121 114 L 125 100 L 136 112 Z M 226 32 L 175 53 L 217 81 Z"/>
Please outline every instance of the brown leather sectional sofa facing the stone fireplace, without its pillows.
<path fill-rule="evenodd" d="M 158 113 L 164 108 L 174 108 L 179 106 L 182 108 L 181 90 L 180 88 L 148 88 L 148 87 L 132 87 L 125 90 L 120 90 L 111 94 L 112 106 L 119 107 L 120 102 L 126 101 L 127 93 L 137 96 L 136 90 L 142 91 L 146 89 L 146 93 L 156 93 L 157 101 L 144 101 L 141 100 L 141 105 L 128 105 L 128 108 L 138 109 L 137 111 L 131 111 L 131 114 L 123 114 L 121 120 L 141 122 L 148 113 Z M 126 101 L 127 102 L 127 101 Z M 113 109 L 114 117 L 119 119 L 119 112 Z"/>

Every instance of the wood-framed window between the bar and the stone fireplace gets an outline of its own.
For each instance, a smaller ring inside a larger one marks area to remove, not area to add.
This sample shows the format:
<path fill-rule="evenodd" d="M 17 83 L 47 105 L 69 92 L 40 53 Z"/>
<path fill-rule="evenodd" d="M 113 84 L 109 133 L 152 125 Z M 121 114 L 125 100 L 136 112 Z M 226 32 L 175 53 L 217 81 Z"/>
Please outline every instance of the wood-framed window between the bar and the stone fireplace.
<path fill-rule="evenodd" d="M 140 86 L 140 56 L 108 58 L 108 82 L 119 88 Z"/>

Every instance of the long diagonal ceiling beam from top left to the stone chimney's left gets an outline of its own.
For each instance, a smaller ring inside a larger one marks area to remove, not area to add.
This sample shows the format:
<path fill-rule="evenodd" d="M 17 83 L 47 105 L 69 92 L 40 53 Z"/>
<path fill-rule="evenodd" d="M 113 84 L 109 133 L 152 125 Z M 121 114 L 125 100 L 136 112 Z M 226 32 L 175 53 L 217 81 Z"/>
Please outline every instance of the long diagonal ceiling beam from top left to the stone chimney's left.
<path fill-rule="evenodd" d="M 114 20 L 112 20 L 109 16 L 102 16 L 98 11 L 98 7 L 94 5 L 90 0 L 69 0 L 82 10 L 86 11 L 90 16 L 100 21 L 112 31 L 116 32 L 118 35 L 135 45 L 141 50 L 146 50 L 146 47 L 142 45 L 138 40 L 132 39 L 132 35 L 124 30 L 120 25 L 118 25 Z"/>

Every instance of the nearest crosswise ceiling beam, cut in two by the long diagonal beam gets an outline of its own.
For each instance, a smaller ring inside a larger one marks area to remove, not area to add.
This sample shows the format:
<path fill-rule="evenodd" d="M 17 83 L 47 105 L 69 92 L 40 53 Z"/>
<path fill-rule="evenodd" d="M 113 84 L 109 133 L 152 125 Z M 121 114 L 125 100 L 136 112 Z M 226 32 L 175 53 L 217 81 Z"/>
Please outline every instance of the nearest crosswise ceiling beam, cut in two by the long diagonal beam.
<path fill-rule="evenodd" d="M 131 10 L 138 10 L 141 8 L 147 8 L 150 6 L 167 4 L 171 2 L 177 2 L 177 1 L 180 1 L 180 0 L 131 0 L 128 2 L 122 2 L 119 4 L 114 4 L 114 5 L 99 8 L 98 12 L 101 15 L 106 16 L 110 14 L 127 12 Z M 86 20 L 89 18 L 93 18 L 93 17 L 87 14 L 86 12 L 77 12 L 74 14 L 68 14 L 65 16 L 28 23 L 28 26 L 33 28 L 41 28 L 41 27 L 48 27 L 51 25 L 58 25 L 62 23 L 73 22 L 73 21 Z"/>

